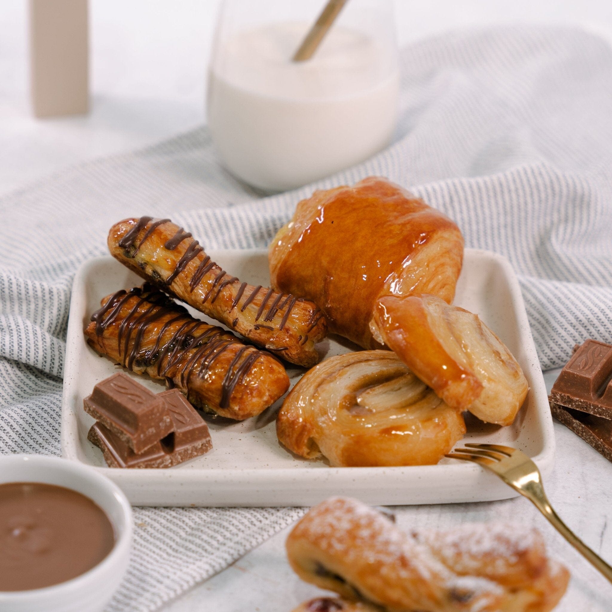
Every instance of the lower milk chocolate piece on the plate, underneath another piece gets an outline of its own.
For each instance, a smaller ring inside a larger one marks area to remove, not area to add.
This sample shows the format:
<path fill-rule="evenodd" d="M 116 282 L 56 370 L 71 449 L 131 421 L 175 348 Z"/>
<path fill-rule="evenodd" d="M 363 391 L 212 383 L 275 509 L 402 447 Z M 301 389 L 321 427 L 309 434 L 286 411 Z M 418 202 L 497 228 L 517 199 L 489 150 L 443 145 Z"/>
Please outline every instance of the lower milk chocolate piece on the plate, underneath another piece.
<path fill-rule="evenodd" d="M 141 453 L 135 453 L 103 424 L 92 425 L 89 441 L 102 450 L 106 465 L 111 468 L 171 468 L 211 450 L 208 426 L 179 390 L 164 391 L 157 397 L 171 417 L 174 432 Z"/>

